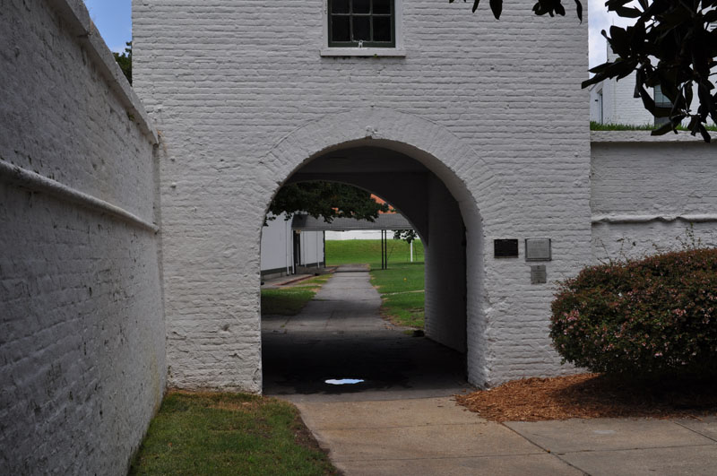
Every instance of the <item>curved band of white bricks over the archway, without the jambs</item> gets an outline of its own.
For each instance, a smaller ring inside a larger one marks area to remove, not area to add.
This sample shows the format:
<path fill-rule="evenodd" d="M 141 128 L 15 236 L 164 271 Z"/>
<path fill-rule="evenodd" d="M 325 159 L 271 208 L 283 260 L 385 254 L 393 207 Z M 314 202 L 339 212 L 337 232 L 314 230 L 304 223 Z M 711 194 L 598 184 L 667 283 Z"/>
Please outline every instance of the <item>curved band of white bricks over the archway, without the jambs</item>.
<path fill-rule="evenodd" d="M 436 173 L 462 207 L 477 208 L 484 225 L 502 207 L 503 186 L 488 162 L 445 126 L 389 108 L 328 115 L 284 136 L 263 160 L 271 169 L 271 198 L 303 165 L 327 151 L 375 141 L 401 151 Z M 268 211 L 269 203 L 266 203 Z"/>

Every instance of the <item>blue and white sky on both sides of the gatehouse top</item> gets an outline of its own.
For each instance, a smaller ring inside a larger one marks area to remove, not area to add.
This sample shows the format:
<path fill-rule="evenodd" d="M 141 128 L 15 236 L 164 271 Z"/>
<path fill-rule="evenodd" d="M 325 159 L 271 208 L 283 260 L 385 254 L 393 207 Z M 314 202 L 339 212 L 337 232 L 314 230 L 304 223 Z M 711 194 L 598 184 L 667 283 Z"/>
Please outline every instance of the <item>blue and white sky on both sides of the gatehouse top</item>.
<path fill-rule="evenodd" d="M 436 2 L 445 0 L 436 0 Z M 624 20 L 614 13 L 608 13 L 604 0 L 583 0 L 587 2 L 588 20 L 590 22 L 590 66 L 600 65 L 605 61 L 605 39 L 600 30 L 609 30 L 611 24 L 624 26 Z M 132 0 L 85 0 L 92 22 L 95 22 L 99 33 L 105 39 L 109 49 L 122 52 L 125 42 L 132 39 Z M 574 6 L 570 0 L 564 2 L 567 15 L 574 15 Z M 524 5 L 524 4 L 521 4 Z"/>

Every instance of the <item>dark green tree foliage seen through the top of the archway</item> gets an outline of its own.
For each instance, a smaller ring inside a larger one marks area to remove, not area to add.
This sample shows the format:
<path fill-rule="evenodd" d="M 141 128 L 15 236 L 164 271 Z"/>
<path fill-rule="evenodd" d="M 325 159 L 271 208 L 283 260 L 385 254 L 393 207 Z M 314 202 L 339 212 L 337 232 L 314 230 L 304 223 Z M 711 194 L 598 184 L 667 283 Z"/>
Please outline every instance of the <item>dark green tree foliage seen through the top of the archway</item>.
<path fill-rule="evenodd" d="M 285 212 L 287 220 L 301 212 L 316 219 L 323 217 L 327 223 L 334 218 L 375 221 L 379 212 L 388 210 L 386 203 L 376 203 L 366 190 L 324 181 L 282 186 L 269 206 L 269 212 L 275 216 Z M 275 216 L 269 217 L 269 220 Z"/>

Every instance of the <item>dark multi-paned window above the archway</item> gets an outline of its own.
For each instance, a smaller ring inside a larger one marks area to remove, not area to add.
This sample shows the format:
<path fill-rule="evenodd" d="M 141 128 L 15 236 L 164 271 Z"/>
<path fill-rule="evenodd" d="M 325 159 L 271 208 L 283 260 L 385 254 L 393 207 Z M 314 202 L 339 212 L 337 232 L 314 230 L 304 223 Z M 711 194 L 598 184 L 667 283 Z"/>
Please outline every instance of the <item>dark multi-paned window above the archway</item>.
<path fill-rule="evenodd" d="M 330 48 L 396 48 L 394 0 L 328 0 Z"/>

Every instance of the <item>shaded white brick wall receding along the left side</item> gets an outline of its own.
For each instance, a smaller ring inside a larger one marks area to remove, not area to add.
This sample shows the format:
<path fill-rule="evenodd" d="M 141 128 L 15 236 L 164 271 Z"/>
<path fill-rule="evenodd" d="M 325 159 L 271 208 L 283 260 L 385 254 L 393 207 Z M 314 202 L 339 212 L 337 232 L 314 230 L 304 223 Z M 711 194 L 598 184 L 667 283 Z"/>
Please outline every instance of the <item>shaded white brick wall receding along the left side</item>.
<path fill-rule="evenodd" d="M 152 132 L 86 27 L 0 9 L 2 474 L 125 474 L 165 388 Z"/>

